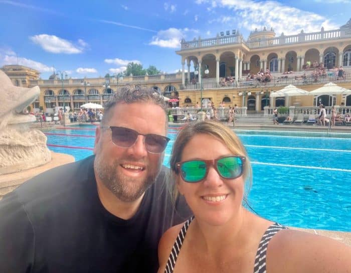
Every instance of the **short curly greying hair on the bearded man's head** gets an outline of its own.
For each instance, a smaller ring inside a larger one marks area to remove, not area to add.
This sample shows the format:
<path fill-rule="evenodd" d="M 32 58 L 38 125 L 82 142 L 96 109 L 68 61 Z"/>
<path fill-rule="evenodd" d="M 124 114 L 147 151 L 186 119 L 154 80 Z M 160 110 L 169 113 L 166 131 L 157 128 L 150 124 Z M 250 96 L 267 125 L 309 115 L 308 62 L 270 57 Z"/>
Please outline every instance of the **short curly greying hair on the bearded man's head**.
<path fill-rule="evenodd" d="M 117 90 L 110 99 L 104 104 L 104 115 L 101 120 L 101 124 L 105 125 L 105 122 L 110 119 L 111 109 L 118 103 L 134 103 L 144 102 L 152 103 L 160 106 L 164 113 L 167 113 L 167 106 L 164 103 L 163 96 L 154 88 L 146 86 L 135 85 L 134 87 L 127 85 Z M 142 112 L 142 109 L 140 109 Z"/>

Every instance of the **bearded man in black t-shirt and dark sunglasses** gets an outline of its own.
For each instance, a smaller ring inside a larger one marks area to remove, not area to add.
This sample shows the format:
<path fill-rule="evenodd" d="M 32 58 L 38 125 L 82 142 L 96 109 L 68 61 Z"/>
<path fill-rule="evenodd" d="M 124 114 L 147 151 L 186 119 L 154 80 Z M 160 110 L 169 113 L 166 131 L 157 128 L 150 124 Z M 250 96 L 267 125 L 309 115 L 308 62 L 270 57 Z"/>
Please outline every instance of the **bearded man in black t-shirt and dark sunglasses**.
<path fill-rule="evenodd" d="M 116 93 L 96 128 L 94 156 L 0 201 L 0 272 L 156 272 L 160 236 L 190 215 L 184 199 L 168 194 L 166 132 L 154 90 Z"/>

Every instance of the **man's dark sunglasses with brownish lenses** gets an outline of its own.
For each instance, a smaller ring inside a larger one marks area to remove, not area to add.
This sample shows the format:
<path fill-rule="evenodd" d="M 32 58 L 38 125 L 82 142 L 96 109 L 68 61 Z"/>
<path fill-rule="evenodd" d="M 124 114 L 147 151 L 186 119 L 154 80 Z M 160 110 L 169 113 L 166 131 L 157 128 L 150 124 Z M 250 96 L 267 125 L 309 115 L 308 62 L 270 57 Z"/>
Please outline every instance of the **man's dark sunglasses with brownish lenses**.
<path fill-rule="evenodd" d="M 145 137 L 145 148 L 151 154 L 160 154 L 164 151 L 169 142 L 163 135 L 147 133 L 142 134 L 133 129 L 118 126 L 101 126 L 101 128 L 110 128 L 112 131 L 112 143 L 118 147 L 129 148 L 133 146 L 138 135 Z"/>

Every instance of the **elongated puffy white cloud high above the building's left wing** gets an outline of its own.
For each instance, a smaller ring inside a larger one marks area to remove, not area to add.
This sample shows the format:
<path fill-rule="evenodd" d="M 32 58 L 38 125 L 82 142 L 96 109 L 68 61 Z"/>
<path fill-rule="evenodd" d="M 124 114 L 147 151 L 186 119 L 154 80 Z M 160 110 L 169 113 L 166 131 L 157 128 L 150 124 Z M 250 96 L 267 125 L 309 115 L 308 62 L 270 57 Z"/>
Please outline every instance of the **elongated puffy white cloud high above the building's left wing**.
<path fill-rule="evenodd" d="M 51 53 L 78 54 L 88 46 L 82 39 L 78 40 L 78 45 L 74 45 L 70 41 L 48 34 L 31 36 L 30 39 Z"/>

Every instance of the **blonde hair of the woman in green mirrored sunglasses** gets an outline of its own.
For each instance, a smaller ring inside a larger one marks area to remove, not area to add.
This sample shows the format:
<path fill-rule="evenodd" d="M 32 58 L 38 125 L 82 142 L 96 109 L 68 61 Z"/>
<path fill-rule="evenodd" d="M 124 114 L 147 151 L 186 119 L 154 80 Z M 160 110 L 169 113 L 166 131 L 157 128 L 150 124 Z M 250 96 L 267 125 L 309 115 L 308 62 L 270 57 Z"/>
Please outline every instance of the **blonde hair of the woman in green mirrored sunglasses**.
<path fill-rule="evenodd" d="M 185 146 L 195 137 L 195 135 L 199 133 L 212 135 L 213 137 L 220 140 L 233 155 L 246 157 L 244 163 L 243 178 L 247 183 L 244 196 L 244 201 L 247 202 L 247 195 L 252 184 L 252 169 L 250 160 L 248 159 L 246 149 L 238 136 L 229 127 L 223 125 L 218 121 L 206 120 L 199 122 L 190 122 L 181 129 L 177 135 L 177 139 L 174 141 L 169 161 L 173 181 L 176 181 L 179 174 L 179 170 L 176 164 L 181 161 Z M 173 197 L 177 198 L 178 190 L 175 186 L 175 183 L 173 184 L 171 191 Z"/>

